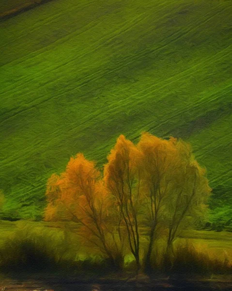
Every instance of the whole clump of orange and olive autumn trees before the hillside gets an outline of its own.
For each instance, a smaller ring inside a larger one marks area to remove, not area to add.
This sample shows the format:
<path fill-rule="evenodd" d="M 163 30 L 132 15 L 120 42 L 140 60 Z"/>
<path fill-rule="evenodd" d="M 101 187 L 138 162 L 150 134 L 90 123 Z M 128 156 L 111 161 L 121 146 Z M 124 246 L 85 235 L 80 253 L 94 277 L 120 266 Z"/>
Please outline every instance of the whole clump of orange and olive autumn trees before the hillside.
<path fill-rule="evenodd" d="M 181 231 L 207 213 L 206 170 L 186 142 L 147 132 L 136 145 L 120 135 L 107 159 L 100 171 L 78 153 L 65 172 L 53 174 L 47 181 L 45 220 L 77 222 L 83 243 L 111 265 L 122 264 L 129 250 L 137 269 L 149 270 L 157 239 L 165 240 L 171 256 Z M 146 246 L 141 247 L 144 229 Z"/>

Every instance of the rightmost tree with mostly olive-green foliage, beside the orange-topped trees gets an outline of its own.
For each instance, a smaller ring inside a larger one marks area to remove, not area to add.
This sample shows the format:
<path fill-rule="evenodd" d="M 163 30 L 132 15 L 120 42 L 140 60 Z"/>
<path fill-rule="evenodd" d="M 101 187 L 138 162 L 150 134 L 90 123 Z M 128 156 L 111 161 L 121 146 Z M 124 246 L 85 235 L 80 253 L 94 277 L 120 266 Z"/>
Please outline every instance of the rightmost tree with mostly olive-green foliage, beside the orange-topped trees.
<path fill-rule="evenodd" d="M 205 169 L 189 159 L 183 172 L 172 185 L 169 203 L 166 204 L 165 222 L 168 227 L 167 252 L 173 252 L 172 243 L 183 229 L 204 219 L 207 200 L 211 192 Z"/>

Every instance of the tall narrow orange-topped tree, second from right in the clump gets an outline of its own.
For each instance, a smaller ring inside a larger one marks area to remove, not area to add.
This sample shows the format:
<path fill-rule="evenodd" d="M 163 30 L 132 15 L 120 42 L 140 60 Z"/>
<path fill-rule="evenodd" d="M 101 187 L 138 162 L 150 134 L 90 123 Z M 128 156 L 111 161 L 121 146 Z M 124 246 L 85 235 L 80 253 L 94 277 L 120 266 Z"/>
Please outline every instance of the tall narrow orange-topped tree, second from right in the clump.
<path fill-rule="evenodd" d="M 171 182 L 170 160 L 173 159 L 173 141 L 166 141 L 148 133 L 142 134 L 138 147 L 143 152 L 144 176 L 143 184 L 147 195 L 149 245 L 146 254 L 146 268 L 150 267 L 151 254 L 154 240 L 157 236 L 156 230 L 163 217 L 165 196 L 168 195 L 168 186 Z"/>

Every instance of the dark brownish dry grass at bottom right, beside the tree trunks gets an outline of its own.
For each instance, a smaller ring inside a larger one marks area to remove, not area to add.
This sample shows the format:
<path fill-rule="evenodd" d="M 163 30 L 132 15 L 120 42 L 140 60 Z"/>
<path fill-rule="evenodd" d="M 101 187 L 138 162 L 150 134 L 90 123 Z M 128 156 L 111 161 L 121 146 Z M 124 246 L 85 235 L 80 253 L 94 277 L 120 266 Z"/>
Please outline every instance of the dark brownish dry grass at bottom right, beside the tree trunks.
<path fill-rule="evenodd" d="M 153 270 L 170 274 L 212 275 L 232 274 L 232 250 L 218 252 L 207 244 L 183 239 L 175 243 L 169 253 L 165 242 L 157 242 L 152 258 Z"/>

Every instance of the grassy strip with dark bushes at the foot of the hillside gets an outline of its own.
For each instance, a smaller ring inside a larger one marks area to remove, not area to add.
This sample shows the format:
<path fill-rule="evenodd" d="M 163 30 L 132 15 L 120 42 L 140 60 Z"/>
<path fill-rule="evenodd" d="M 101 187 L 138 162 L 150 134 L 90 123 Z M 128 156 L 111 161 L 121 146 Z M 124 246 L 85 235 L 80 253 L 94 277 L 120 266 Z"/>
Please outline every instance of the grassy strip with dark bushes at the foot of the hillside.
<path fill-rule="evenodd" d="M 144 229 L 145 230 L 145 229 Z M 146 238 L 146 235 L 143 235 Z M 79 240 L 77 224 L 68 222 L 0 221 L 0 269 L 2 274 L 76 275 L 76 278 L 119 280 L 135 274 L 131 254 L 125 254 L 122 270 L 110 269 L 93 246 Z M 142 240 L 141 240 L 142 241 Z M 145 240 L 144 240 L 145 241 Z M 144 243 L 144 242 L 142 242 Z M 163 269 L 162 241 L 154 252 L 153 274 L 169 274 Z M 158 251 L 158 252 L 156 252 Z M 228 232 L 188 230 L 175 242 L 176 259 L 171 269 L 176 274 L 202 278 L 231 279 L 232 238 Z M 224 277 L 223 277 L 224 276 Z"/>

